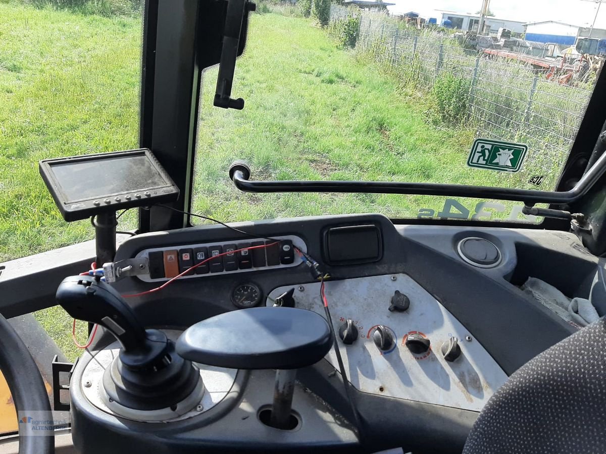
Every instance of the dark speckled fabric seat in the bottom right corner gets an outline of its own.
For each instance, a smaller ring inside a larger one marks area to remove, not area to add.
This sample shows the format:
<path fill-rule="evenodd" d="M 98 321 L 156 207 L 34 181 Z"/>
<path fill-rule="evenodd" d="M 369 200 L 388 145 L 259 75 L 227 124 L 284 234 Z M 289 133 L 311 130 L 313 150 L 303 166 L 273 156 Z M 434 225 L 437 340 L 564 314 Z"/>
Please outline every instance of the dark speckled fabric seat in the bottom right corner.
<path fill-rule="evenodd" d="M 606 318 L 517 370 L 488 401 L 464 454 L 606 452 Z"/>

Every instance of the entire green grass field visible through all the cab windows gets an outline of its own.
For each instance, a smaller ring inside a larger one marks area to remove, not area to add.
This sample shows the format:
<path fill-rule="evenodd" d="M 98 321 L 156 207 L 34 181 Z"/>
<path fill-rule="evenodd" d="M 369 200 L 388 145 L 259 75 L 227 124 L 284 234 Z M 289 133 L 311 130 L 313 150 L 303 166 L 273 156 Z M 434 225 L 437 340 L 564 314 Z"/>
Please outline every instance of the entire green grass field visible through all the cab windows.
<path fill-rule="evenodd" d="M 0 3 L 0 18 L 2 262 L 92 237 L 88 222 L 67 225 L 59 217 L 38 160 L 136 147 L 141 22 L 10 2 Z M 232 93 L 246 100 L 243 111 L 211 107 L 215 82 L 216 68 L 204 75 L 197 212 L 225 221 L 352 212 L 416 217 L 420 208 L 437 213 L 444 206 L 435 197 L 242 194 L 227 179 L 234 159 L 250 161 L 258 179 L 494 185 L 504 178 L 467 168 L 471 131 L 428 125 L 422 97 L 338 48 L 310 19 L 253 16 Z M 473 214 L 477 201 L 462 202 Z M 68 357 L 78 354 L 61 308 L 36 317 Z"/>

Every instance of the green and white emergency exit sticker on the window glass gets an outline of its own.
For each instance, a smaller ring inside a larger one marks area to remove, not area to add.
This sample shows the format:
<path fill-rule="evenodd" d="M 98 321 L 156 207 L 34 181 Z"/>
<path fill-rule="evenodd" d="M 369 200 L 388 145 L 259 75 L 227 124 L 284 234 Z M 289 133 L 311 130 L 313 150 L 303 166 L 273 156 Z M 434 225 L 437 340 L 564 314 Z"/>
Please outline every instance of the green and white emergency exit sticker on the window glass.
<path fill-rule="evenodd" d="M 519 172 L 528 151 L 522 143 L 476 139 L 473 142 L 467 165 L 478 169 L 499 172 Z"/>

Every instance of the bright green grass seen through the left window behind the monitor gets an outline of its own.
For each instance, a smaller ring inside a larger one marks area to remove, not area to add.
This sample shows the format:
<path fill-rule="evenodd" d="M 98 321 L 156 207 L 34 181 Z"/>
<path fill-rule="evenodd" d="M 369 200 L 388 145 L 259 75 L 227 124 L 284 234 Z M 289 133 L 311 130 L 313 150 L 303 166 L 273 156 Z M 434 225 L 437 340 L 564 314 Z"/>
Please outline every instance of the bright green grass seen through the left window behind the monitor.
<path fill-rule="evenodd" d="M 141 22 L 0 4 L 0 262 L 91 239 L 38 173 L 49 157 L 136 148 Z"/>

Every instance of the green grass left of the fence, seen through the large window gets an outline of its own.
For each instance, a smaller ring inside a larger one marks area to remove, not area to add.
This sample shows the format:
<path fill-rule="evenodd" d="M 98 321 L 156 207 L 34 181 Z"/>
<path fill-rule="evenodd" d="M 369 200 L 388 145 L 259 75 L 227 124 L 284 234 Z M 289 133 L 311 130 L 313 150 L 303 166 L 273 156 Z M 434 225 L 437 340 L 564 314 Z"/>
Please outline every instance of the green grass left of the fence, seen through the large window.
<path fill-rule="evenodd" d="M 381 212 L 416 217 L 444 199 L 373 194 L 244 194 L 227 178 L 235 159 L 257 179 L 351 179 L 495 185 L 508 176 L 467 168 L 473 132 L 428 125 L 425 100 L 402 93 L 376 64 L 338 48 L 312 21 L 255 15 L 233 96 L 243 111 L 211 107 L 204 75 L 196 211 L 224 220 Z M 470 207 L 477 202 L 466 202 Z"/>

